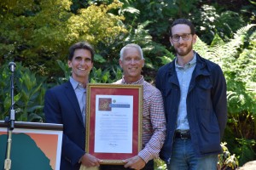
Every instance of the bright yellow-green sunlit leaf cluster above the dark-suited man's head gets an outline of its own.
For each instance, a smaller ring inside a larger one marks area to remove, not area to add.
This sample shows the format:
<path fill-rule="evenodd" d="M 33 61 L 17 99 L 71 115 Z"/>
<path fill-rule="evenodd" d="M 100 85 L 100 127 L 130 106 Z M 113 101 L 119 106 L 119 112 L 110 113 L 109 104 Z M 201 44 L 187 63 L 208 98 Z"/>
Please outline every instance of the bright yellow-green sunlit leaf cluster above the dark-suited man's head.
<path fill-rule="evenodd" d="M 66 39 L 76 42 L 86 40 L 92 44 L 98 42 L 111 43 L 120 33 L 124 33 L 121 20 L 122 16 L 109 14 L 113 8 L 119 8 L 121 3 L 113 1 L 109 5 L 90 5 L 88 8 L 81 8 L 78 14 L 73 15 L 67 20 L 68 34 Z"/>

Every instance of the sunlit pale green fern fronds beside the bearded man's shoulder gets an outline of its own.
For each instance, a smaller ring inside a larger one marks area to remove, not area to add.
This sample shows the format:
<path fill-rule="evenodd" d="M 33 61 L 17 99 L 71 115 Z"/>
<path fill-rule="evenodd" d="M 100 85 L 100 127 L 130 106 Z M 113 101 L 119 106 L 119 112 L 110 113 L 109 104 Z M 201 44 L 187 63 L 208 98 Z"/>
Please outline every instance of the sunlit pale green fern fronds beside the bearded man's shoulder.
<path fill-rule="evenodd" d="M 235 34 L 235 37 L 230 39 L 230 42 L 224 42 L 218 35 L 213 39 L 211 46 L 207 46 L 206 43 L 199 40 L 198 44 L 195 44 L 195 50 L 207 59 L 211 59 L 213 62 L 218 63 L 224 71 L 224 76 L 228 84 L 228 99 L 232 102 L 231 98 L 236 95 L 236 105 L 232 105 L 236 108 L 229 107 L 230 112 L 240 112 L 250 108 L 251 112 L 255 112 L 253 103 L 253 95 L 255 95 L 256 88 L 253 86 L 255 82 L 255 41 L 252 39 L 255 37 L 255 33 L 249 34 L 249 29 L 254 25 L 242 27 Z M 244 49 L 247 45 L 248 48 Z M 244 50 L 241 52 L 241 50 Z M 232 63 L 232 65 L 230 65 Z M 241 86 L 237 88 L 237 86 Z M 247 95 L 247 106 L 242 107 L 245 104 L 244 96 Z M 240 97 L 239 97 L 240 96 Z M 243 97 L 241 97 L 243 96 Z M 248 102 L 250 101 L 250 102 Z M 241 103 L 241 105 L 237 105 Z"/>

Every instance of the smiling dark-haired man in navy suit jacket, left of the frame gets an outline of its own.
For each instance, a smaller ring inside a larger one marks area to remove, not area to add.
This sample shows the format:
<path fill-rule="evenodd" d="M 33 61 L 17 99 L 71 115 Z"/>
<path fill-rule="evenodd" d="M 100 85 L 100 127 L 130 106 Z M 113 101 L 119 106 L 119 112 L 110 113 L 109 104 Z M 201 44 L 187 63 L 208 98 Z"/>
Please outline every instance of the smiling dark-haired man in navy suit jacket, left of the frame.
<path fill-rule="evenodd" d="M 77 170 L 81 164 L 85 167 L 100 166 L 101 160 L 84 151 L 85 93 L 94 54 L 94 49 L 87 42 L 73 44 L 69 48 L 67 61 L 72 77 L 45 94 L 46 122 L 63 124 L 61 170 Z"/>

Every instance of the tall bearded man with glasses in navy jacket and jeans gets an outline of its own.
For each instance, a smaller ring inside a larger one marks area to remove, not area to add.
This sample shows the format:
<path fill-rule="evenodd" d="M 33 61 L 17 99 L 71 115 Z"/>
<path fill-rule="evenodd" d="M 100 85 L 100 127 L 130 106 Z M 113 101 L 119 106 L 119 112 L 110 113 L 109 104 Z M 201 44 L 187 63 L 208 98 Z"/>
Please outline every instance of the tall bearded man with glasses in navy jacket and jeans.
<path fill-rule="evenodd" d="M 167 122 L 160 158 L 169 170 L 216 170 L 227 122 L 223 71 L 193 50 L 197 36 L 189 20 L 175 20 L 170 33 L 176 58 L 160 68 L 155 82 Z"/>

